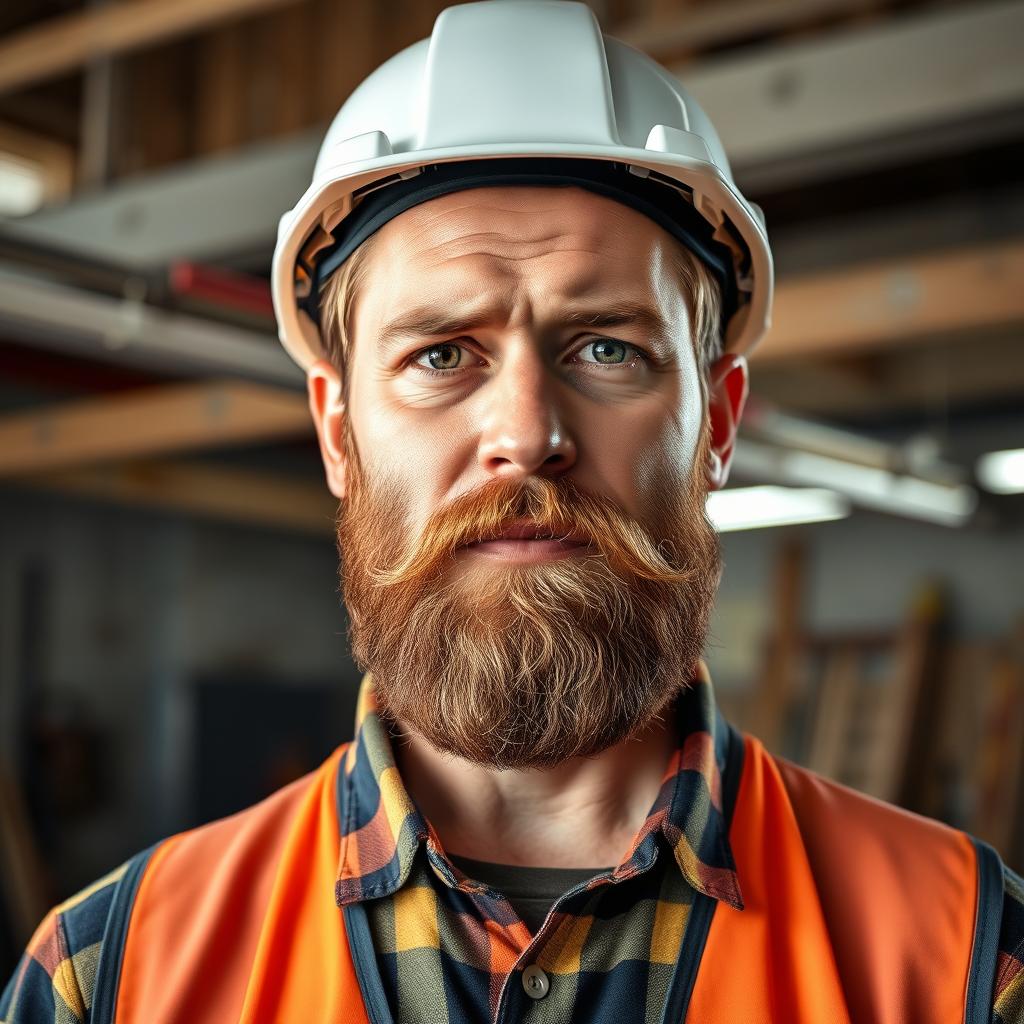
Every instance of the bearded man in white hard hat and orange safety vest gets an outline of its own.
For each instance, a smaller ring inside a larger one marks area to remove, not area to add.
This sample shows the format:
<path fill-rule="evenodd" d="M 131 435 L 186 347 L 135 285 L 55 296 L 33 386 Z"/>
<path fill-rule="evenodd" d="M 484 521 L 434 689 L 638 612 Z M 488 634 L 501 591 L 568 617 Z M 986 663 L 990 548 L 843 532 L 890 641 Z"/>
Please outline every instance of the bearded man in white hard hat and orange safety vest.
<path fill-rule="evenodd" d="M 0 1014 L 1024 1022 L 994 851 L 716 709 L 703 502 L 771 263 L 673 80 L 583 5 L 452 8 L 339 115 L 274 274 L 355 740 L 56 908 Z"/>

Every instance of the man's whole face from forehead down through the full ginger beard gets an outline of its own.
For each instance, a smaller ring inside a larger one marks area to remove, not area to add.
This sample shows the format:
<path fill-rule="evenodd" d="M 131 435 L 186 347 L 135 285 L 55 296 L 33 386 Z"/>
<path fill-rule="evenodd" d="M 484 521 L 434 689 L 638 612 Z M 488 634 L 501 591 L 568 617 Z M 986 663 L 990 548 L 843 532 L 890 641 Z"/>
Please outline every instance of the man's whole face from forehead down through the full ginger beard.
<path fill-rule="evenodd" d="M 578 188 L 433 200 L 373 241 L 334 420 L 311 372 L 353 654 L 440 750 L 593 755 L 692 675 L 720 563 L 674 245 Z"/>

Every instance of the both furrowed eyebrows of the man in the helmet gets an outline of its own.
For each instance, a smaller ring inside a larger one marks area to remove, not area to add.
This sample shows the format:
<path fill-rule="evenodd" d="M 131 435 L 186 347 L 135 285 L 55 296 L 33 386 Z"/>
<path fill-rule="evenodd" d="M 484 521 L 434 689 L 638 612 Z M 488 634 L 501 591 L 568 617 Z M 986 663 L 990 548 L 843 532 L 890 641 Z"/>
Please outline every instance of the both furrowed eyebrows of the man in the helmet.
<path fill-rule="evenodd" d="M 498 321 L 495 310 L 458 312 L 434 306 L 417 306 L 384 326 L 377 338 L 378 347 L 386 350 L 408 338 L 439 338 L 464 334 L 481 324 Z M 556 317 L 561 327 L 612 328 L 640 327 L 654 340 L 668 342 L 671 337 L 665 317 L 645 302 L 610 302 L 587 309 L 568 309 Z"/>

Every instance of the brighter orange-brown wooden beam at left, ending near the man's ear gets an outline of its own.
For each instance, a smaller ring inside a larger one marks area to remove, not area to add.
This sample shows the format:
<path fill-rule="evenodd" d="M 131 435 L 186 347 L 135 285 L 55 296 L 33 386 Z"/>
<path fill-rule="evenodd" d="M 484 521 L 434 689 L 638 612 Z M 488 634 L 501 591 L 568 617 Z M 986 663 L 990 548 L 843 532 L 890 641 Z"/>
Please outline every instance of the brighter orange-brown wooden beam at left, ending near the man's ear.
<path fill-rule="evenodd" d="M 311 433 L 297 391 L 237 382 L 145 388 L 0 418 L 0 477 Z"/>

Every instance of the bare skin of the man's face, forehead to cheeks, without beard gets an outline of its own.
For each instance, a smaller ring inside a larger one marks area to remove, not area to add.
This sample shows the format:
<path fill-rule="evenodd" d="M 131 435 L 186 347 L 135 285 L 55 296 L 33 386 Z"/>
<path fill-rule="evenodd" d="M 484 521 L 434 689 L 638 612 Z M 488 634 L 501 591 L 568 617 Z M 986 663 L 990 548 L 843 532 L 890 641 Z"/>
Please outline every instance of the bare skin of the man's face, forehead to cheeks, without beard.
<path fill-rule="evenodd" d="M 579 188 L 456 193 L 378 232 L 353 322 L 350 426 L 407 485 L 414 528 L 497 477 L 568 473 L 636 517 L 655 480 L 688 479 L 703 409 L 673 246 L 642 214 Z M 659 317 L 666 336 L 640 316 L 569 319 L 621 306 Z M 462 329 L 393 337 L 417 311 Z M 595 350 L 602 340 L 612 345 Z M 442 343 L 458 348 L 414 358 Z"/>

